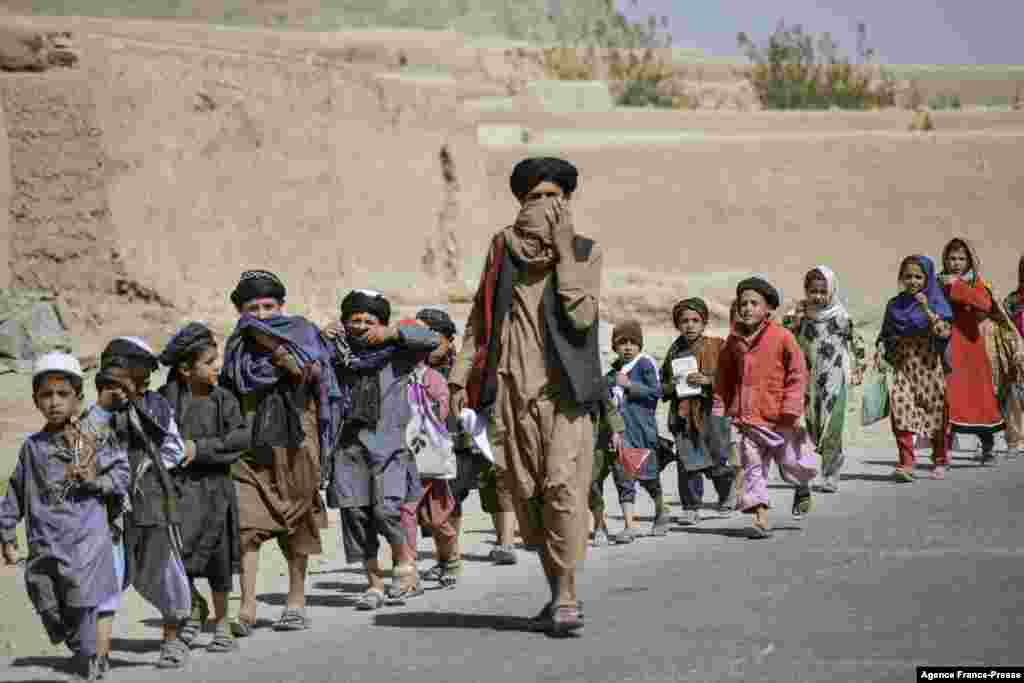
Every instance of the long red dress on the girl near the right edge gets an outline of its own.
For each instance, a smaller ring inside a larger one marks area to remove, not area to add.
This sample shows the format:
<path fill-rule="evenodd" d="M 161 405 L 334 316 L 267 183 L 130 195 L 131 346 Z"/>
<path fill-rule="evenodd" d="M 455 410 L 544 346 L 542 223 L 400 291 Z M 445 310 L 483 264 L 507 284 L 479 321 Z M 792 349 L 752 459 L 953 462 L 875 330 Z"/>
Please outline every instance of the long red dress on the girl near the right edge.
<path fill-rule="evenodd" d="M 946 380 L 949 425 L 953 432 L 990 436 L 1004 427 L 992 384 L 992 364 L 980 324 L 992 309 L 992 297 L 983 283 L 957 280 L 946 287 L 953 308 L 949 340 L 952 372 Z"/>

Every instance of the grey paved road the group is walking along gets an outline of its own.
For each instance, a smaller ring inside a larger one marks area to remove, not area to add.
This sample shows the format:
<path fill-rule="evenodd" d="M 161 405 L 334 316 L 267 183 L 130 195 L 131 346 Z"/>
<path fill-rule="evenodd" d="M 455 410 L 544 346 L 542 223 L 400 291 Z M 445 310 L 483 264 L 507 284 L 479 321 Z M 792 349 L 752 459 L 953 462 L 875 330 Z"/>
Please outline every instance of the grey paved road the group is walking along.
<path fill-rule="evenodd" d="M 118 641 L 112 680 L 911 681 L 915 664 L 1022 665 L 1024 460 L 957 455 L 946 480 L 902 485 L 887 480 L 892 453 L 853 452 L 843 492 L 802 524 L 775 481 L 772 540 L 742 538 L 737 516 L 594 551 L 579 638 L 519 630 L 546 600 L 532 556 L 472 562 L 458 590 L 372 615 L 349 606 L 361 578 L 336 565 L 311 579 L 311 632 L 261 631 L 179 674 L 152 669 L 155 640 Z M 489 537 L 469 541 L 482 553 Z M 12 664 L 0 679 L 58 678 L 51 660 Z"/>

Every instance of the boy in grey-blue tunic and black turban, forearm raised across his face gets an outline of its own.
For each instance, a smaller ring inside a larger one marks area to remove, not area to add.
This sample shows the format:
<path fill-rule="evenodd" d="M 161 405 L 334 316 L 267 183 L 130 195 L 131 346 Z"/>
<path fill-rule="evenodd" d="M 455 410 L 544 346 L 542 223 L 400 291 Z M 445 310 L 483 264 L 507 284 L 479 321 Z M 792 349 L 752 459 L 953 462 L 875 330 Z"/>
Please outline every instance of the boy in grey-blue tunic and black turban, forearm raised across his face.
<path fill-rule="evenodd" d="M 354 290 L 341 303 L 336 371 L 345 396 L 344 428 L 334 459 L 333 495 L 341 509 L 345 557 L 361 561 L 369 587 L 356 608 L 388 600 L 402 604 L 423 594 L 415 549 L 401 523 L 403 505 L 423 496 L 416 460 L 406 441 L 412 419 L 409 382 L 422 358 L 440 344 L 427 327 L 390 326 L 391 304 L 378 292 Z M 384 590 L 378 537 L 391 546 L 393 582 Z"/>

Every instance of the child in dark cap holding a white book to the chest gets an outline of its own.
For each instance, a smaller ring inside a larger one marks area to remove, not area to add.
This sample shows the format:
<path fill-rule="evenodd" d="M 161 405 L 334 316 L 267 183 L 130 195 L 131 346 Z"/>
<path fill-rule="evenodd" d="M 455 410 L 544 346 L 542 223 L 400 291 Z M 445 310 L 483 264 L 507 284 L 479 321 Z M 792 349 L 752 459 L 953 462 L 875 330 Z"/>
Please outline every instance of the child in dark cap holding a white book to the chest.
<path fill-rule="evenodd" d="M 708 315 L 708 304 L 702 299 L 683 299 L 675 305 L 672 321 L 679 330 L 679 337 L 669 347 L 662 365 L 662 395 L 669 401 L 669 431 L 675 438 L 683 524 L 696 524 L 700 519 L 706 476 L 715 484 L 719 512 L 731 512 L 735 508 L 735 473 L 729 464 L 729 423 L 711 414 L 715 373 L 725 340 L 705 336 Z M 672 361 L 685 356 L 697 359 L 697 371 L 685 380 L 688 385 L 699 387 L 700 393 L 680 397 L 676 392 Z"/>

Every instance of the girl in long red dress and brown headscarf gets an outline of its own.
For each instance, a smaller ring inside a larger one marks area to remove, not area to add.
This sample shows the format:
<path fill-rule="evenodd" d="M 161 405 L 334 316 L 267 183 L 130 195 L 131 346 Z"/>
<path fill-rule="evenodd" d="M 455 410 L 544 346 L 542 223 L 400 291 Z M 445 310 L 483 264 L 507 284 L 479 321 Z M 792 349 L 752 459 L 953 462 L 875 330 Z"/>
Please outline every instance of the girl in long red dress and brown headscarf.
<path fill-rule="evenodd" d="M 979 273 L 977 253 L 966 240 L 956 238 L 946 245 L 942 264 L 942 284 L 953 308 L 948 356 L 952 372 L 946 378 L 950 431 L 976 435 L 981 440 L 982 464 L 994 465 L 995 433 L 1005 425 L 980 329 L 992 312 L 992 293 Z"/>

